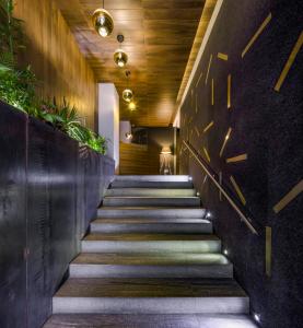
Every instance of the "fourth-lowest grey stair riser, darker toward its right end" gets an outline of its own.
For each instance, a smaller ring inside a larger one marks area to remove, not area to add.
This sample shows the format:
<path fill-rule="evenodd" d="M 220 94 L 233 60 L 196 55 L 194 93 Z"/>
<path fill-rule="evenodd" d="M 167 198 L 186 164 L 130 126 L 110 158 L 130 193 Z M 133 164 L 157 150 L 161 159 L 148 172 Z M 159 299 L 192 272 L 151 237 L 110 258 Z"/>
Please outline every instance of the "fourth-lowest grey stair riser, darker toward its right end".
<path fill-rule="evenodd" d="M 91 224 L 92 233 L 211 234 L 212 223 Z"/>

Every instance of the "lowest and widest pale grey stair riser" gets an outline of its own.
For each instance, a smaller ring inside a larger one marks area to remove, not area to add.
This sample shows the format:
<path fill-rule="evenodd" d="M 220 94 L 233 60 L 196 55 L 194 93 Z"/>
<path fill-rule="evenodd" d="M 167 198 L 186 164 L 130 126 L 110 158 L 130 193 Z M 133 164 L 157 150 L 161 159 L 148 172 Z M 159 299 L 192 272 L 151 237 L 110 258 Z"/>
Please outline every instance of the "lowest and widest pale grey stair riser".
<path fill-rule="evenodd" d="M 54 297 L 53 313 L 248 314 L 248 297 Z"/>

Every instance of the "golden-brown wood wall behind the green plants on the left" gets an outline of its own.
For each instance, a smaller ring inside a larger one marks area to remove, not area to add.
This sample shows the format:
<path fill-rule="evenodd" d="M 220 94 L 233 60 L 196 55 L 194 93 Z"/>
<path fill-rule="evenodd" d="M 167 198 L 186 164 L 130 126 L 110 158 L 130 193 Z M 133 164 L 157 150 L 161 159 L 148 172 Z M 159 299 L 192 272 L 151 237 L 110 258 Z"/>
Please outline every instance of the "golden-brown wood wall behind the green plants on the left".
<path fill-rule="evenodd" d="M 95 127 L 96 82 L 53 0 L 16 0 L 14 15 L 24 21 L 27 47 L 24 62 L 32 65 L 46 98 L 63 97 L 74 105 L 86 126 Z"/>

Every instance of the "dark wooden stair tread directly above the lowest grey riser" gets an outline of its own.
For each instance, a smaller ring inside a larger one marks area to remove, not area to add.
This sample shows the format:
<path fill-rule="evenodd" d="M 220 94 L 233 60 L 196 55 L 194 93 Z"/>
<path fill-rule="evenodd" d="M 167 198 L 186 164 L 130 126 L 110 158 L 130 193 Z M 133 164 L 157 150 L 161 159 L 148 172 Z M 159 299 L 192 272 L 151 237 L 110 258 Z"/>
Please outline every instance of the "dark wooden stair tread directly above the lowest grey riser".
<path fill-rule="evenodd" d="M 247 297 L 233 279 L 70 278 L 55 297 Z"/>

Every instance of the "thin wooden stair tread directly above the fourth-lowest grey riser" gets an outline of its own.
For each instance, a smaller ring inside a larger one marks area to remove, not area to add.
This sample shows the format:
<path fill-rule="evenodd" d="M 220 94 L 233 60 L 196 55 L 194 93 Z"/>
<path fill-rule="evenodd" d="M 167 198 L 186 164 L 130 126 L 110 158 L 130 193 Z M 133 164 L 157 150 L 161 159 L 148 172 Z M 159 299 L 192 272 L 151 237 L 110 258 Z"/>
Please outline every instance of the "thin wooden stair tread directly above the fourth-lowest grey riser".
<path fill-rule="evenodd" d="M 177 223 L 177 224 L 210 224 L 209 220 L 205 219 L 174 219 L 176 220 L 175 222 L 172 220 L 166 219 L 159 219 L 156 218 L 114 218 L 114 219 L 96 219 L 92 222 L 92 224 L 149 224 L 149 223 L 154 223 L 154 224 L 162 224 L 162 223 Z"/>

